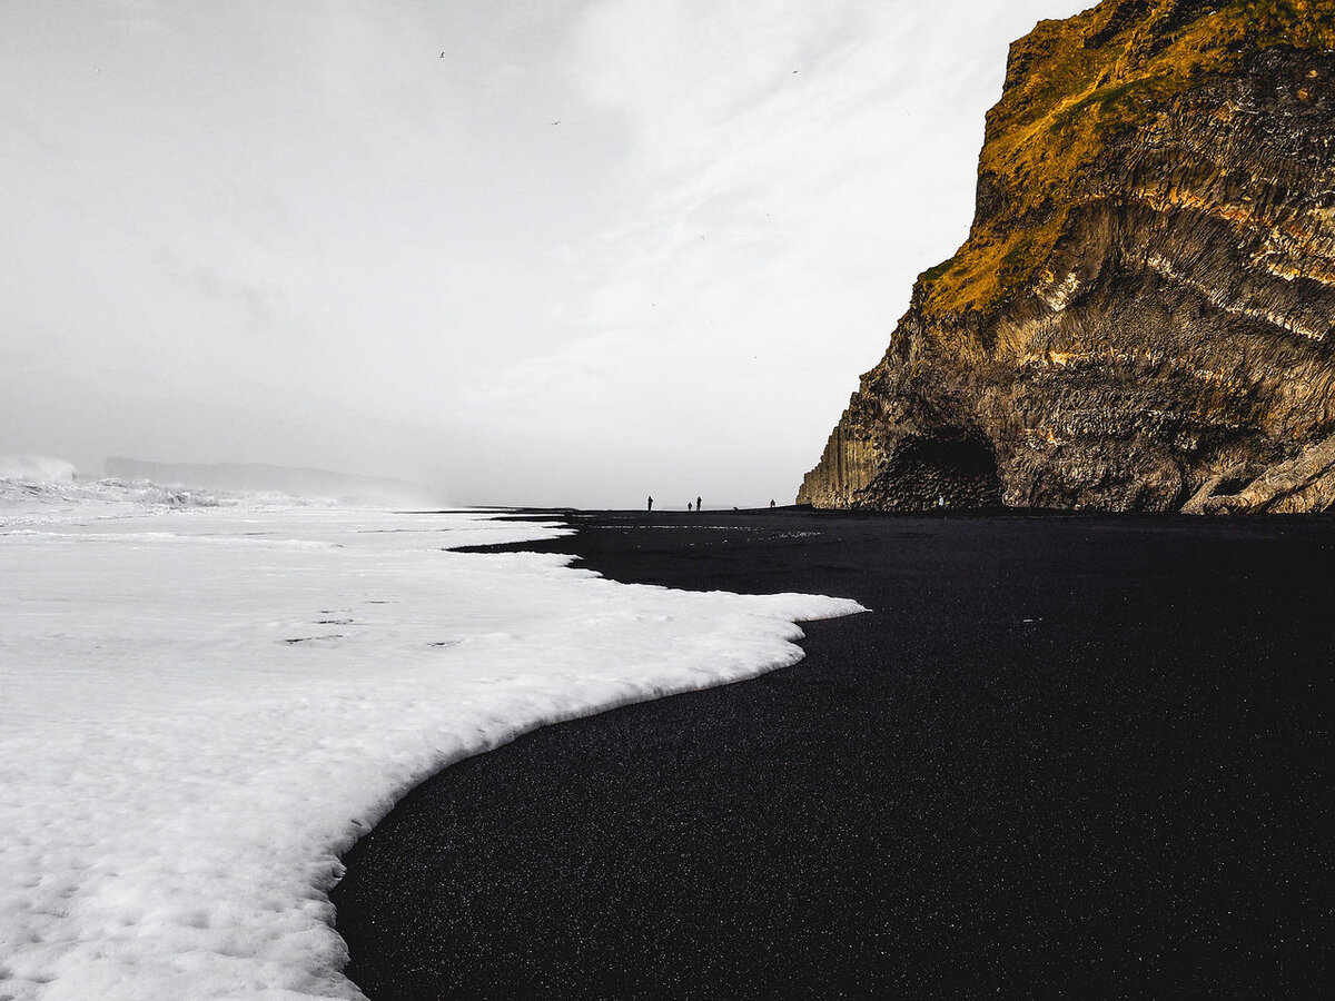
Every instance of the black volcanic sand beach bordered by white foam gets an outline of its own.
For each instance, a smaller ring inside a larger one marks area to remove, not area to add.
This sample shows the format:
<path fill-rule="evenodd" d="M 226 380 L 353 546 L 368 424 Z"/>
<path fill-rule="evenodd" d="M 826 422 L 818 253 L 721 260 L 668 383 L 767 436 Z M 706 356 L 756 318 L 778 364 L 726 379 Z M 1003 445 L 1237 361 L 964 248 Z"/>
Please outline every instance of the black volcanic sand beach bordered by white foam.
<path fill-rule="evenodd" d="M 413 791 L 332 894 L 370 997 L 1328 986 L 1335 522 L 573 522 L 526 549 L 874 611 Z"/>

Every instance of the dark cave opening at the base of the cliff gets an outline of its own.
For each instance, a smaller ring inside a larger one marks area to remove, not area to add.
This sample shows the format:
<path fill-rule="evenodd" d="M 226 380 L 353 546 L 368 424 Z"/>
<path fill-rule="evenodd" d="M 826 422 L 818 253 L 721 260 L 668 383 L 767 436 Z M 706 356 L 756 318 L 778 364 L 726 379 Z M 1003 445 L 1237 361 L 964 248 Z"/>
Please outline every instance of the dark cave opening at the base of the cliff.
<path fill-rule="evenodd" d="M 1001 476 L 983 438 L 914 436 L 900 444 L 865 492 L 876 506 L 898 510 L 1000 507 Z"/>

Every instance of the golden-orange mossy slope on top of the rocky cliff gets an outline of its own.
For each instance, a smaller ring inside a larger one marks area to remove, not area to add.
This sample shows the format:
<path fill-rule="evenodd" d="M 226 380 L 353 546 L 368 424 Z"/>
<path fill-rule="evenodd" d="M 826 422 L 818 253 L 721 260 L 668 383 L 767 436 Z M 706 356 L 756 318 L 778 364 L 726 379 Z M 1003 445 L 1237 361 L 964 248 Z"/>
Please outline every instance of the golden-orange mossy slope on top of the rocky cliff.
<path fill-rule="evenodd" d="M 1108 145 L 1180 93 L 1274 45 L 1335 49 L 1335 0 L 1104 0 L 1011 47 L 988 112 L 965 244 L 925 271 L 929 318 L 992 314 L 1029 287 Z"/>

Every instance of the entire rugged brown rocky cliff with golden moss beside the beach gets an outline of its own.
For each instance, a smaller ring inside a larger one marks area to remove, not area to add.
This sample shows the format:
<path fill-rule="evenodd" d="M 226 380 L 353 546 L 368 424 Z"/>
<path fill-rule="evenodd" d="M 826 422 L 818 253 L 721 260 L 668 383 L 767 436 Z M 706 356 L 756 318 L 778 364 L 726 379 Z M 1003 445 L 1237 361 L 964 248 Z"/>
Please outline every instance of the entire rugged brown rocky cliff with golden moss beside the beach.
<path fill-rule="evenodd" d="M 1104 0 L 1011 49 L 977 211 L 798 502 L 1335 500 L 1335 4 Z"/>

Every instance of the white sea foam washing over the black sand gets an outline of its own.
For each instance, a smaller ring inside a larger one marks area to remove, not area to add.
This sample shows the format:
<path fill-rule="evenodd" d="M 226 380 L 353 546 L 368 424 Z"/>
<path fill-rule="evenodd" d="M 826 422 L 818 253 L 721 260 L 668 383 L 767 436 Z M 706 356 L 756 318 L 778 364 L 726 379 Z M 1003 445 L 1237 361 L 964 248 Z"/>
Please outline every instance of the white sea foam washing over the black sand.
<path fill-rule="evenodd" d="M 450 551 L 566 531 L 479 513 L 29 509 L 0 510 L 17 998 L 359 997 L 327 890 L 405 791 L 547 722 L 794 663 L 796 621 L 858 610 Z"/>

